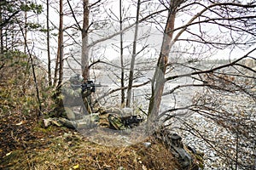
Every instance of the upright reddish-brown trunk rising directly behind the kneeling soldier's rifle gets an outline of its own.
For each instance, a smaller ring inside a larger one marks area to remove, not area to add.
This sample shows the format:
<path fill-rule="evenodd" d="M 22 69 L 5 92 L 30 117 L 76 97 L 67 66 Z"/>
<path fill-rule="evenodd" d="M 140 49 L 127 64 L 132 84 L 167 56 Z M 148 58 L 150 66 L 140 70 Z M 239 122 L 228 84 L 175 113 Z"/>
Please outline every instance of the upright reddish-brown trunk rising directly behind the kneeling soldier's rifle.
<path fill-rule="evenodd" d="M 89 71 L 89 48 L 88 48 L 88 30 L 89 30 L 89 0 L 84 0 L 84 20 L 82 29 L 82 75 L 84 77 L 84 82 L 90 79 Z"/>

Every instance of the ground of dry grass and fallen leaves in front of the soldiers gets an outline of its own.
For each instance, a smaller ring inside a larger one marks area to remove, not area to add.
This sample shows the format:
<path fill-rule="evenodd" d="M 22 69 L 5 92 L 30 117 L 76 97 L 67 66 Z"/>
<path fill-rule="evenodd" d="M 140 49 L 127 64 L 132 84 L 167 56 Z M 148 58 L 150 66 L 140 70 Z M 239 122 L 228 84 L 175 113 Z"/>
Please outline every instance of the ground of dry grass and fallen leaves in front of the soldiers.
<path fill-rule="evenodd" d="M 0 116 L 0 169 L 180 169 L 153 137 L 127 147 L 95 144 L 67 127 L 42 127 L 35 115 Z"/>

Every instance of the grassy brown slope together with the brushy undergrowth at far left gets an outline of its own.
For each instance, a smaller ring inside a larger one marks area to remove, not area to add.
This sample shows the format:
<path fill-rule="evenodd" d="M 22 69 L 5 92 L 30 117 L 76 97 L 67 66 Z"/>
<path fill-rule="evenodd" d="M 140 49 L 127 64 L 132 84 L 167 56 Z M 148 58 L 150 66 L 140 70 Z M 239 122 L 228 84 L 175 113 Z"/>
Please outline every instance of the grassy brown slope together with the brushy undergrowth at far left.
<path fill-rule="evenodd" d="M 44 70 L 37 67 L 42 105 L 31 65 L 22 54 L 1 56 L 0 169 L 180 169 L 171 152 L 156 139 L 129 147 L 107 147 L 89 142 L 67 127 L 42 127 L 42 118 L 54 107 Z"/>

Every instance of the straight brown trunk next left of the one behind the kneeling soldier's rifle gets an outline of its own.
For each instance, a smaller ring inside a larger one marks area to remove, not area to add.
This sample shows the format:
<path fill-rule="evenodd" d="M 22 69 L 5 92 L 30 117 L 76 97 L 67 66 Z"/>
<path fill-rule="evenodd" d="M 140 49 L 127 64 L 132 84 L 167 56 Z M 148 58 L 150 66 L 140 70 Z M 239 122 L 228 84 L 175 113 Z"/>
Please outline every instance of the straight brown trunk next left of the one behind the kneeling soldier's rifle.
<path fill-rule="evenodd" d="M 59 37 L 58 37 L 58 59 L 60 62 L 59 67 L 59 80 L 58 87 L 61 88 L 61 82 L 63 80 L 63 2 L 60 0 L 60 26 L 59 26 Z"/>

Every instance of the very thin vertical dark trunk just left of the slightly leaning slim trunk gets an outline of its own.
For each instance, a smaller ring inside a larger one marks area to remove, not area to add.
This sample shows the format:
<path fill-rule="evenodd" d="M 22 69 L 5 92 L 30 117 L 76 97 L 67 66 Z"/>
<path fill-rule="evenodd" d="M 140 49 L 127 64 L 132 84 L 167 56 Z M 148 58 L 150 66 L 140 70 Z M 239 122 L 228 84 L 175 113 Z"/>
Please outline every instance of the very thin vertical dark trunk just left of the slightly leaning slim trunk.
<path fill-rule="evenodd" d="M 119 0 L 119 24 L 120 31 L 123 30 L 122 0 Z M 125 105 L 125 68 L 124 68 L 124 47 L 123 32 L 120 33 L 120 64 L 121 64 L 121 105 Z"/>

